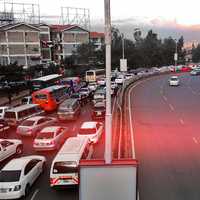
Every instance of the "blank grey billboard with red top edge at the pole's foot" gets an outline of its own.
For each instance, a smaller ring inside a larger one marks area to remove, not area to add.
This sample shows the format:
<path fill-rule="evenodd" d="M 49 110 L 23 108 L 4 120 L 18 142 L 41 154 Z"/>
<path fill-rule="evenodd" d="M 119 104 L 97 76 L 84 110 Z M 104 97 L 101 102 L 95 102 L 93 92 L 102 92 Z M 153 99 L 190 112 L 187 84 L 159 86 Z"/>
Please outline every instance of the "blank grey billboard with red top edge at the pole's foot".
<path fill-rule="evenodd" d="M 80 166 L 79 200 L 136 200 L 137 161 L 90 160 Z"/>

